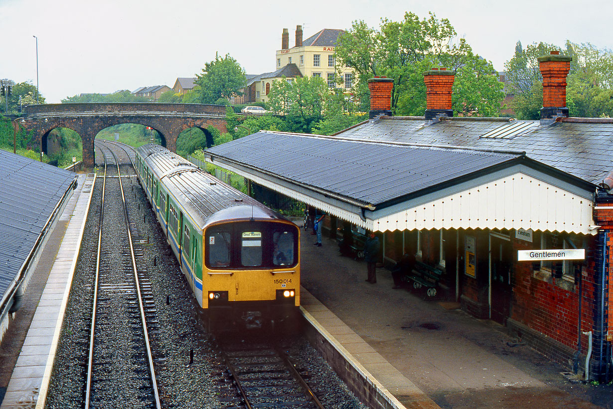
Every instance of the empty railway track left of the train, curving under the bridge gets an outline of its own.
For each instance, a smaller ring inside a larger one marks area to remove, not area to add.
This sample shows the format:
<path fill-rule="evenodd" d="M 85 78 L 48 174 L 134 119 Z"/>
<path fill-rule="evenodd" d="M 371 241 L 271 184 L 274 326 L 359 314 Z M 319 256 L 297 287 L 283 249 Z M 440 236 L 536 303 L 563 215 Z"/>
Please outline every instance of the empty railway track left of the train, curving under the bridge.
<path fill-rule="evenodd" d="M 151 283 L 137 266 L 143 251 L 133 244 L 141 240 L 128 220 L 118 158 L 105 143 L 96 145 L 104 155 L 104 182 L 84 407 L 161 408 L 150 342 L 159 323 Z M 107 174 L 110 162 L 115 178 Z"/>

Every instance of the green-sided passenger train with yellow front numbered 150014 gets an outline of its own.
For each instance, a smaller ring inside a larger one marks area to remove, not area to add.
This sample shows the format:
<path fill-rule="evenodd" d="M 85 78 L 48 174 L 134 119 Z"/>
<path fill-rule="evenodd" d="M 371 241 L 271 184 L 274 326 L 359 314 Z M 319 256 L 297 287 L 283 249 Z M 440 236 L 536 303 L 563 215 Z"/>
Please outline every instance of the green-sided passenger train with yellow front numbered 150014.
<path fill-rule="evenodd" d="M 159 145 L 137 149 L 139 182 L 209 324 L 283 321 L 300 305 L 300 229 Z"/>

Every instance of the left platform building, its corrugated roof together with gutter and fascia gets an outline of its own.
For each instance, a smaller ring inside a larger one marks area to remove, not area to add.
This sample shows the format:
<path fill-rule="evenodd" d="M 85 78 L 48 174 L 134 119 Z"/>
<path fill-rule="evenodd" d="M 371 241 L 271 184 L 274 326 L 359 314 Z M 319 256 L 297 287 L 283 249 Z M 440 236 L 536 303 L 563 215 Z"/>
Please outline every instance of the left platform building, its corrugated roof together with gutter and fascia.
<path fill-rule="evenodd" d="M 73 172 L 0 150 L 0 340 L 76 186 Z"/>

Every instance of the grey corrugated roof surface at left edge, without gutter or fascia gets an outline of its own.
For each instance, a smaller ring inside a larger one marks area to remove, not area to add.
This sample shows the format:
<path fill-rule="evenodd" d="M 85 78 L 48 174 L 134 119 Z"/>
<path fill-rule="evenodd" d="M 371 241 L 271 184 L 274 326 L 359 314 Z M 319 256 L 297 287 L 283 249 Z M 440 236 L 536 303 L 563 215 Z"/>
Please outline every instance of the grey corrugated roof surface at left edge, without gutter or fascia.
<path fill-rule="evenodd" d="M 0 150 L 0 294 L 74 178 L 68 170 Z"/>

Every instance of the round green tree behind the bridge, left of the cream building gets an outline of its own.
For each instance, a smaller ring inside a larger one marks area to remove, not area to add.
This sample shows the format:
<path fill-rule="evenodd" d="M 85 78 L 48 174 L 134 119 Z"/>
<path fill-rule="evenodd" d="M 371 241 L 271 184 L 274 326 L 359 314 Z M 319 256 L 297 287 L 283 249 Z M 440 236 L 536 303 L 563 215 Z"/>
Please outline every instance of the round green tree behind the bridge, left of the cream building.
<path fill-rule="evenodd" d="M 240 96 L 245 83 L 245 70 L 229 54 L 224 58 L 215 55 L 213 61 L 204 64 L 202 74 L 196 74 L 196 84 L 200 86 L 197 92 L 202 104 L 215 104 L 220 98 Z"/>

